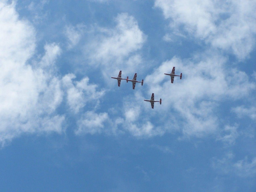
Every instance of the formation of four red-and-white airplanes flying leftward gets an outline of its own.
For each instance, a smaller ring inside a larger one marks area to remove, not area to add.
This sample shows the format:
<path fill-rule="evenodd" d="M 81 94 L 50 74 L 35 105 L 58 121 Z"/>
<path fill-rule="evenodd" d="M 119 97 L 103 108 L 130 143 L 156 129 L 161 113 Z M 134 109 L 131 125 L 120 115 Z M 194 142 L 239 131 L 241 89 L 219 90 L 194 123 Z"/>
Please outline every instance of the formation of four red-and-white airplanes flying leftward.
<path fill-rule="evenodd" d="M 173 70 L 171 71 L 171 73 L 164 73 L 164 74 L 171 77 L 171 83 L 173 83 L 175 76 L 179 76 L 180 79 L 182 78 L 182 73 L 180 73 L 180 75 L 175 75 L 175 66 L 173 67 Z M 117 80 L 117 85 L 119 87 L 121 85 L 121 80 L 126 80 L 127 83 L 128 83 L 128 81 L 131 81 L 133 83 L 133 89 L 135 89 L 136 83 L 141 83 L 141 85 L 143 85 L 143 79 L 142 79 L 142 81 L 137 81 L 137 73 L 135 73 L 133 79 L 129 79 L 129 76 L 127 76 L 127 78 L 122 78 L 122 71 L 119 71 L 119 75 L 117 77 L 111 77 L 111 78 Z M 150 100 L 144 100 L 144 101 L 150 102 L 152 109 L 154 109 L 155 102 L 159 102 L 160 104 L 162 104 L 161 98 L 159 101 L 154 100 L 154 93 L 152 93 Z"/>

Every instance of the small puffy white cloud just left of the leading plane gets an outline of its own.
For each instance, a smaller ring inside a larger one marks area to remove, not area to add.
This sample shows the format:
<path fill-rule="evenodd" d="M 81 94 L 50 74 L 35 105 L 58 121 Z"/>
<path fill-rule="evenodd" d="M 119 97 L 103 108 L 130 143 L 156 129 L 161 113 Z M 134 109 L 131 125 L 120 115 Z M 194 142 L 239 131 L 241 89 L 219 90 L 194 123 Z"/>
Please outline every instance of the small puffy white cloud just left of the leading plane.
<path fill-rule="evenodd" d="M 62 78 L 69 107 L 77 113 L 87 102 L 93 102 L 97 106 L 100 97 L 104 95 L 104 90 L 97 91 L 97 85 L 89 84 L 88 77 L 81 81 L 73 81 L 74 78 L 74 74 L 67 74 Z"/>

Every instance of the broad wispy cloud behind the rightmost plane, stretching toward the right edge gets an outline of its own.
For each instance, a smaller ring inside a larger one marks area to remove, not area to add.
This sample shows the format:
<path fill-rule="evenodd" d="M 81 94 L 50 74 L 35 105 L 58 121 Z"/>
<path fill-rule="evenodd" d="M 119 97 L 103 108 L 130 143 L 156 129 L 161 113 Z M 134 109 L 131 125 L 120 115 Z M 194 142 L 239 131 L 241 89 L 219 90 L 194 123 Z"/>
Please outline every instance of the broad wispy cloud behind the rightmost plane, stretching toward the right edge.
<path fill-rule="evenodd" d="M 185 136 L 215 133 L 221 127 L 216 114 L 219 102 L 227 97 L 230 102 L 249 97 L 255 89 L 246 73 L 226 69 L 225 63 L 226 59 L 215 53 L 197 55 L 191 60 L 173 57 L 145 78 L 145 82 L 150 82 L 148 94 L 154 92 L 163 100 L 160 114 L 172 111 L 174 119 L 181 118 L 182 123 L 173 123 L 172 127 L 180 127 Z M 183 73 L 183 78 L 175 77 L 171 84 L 164 73 L 170 73 L 173 66 L 175 73 Z"/>

